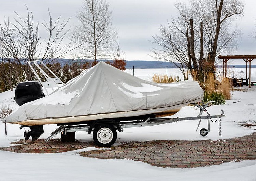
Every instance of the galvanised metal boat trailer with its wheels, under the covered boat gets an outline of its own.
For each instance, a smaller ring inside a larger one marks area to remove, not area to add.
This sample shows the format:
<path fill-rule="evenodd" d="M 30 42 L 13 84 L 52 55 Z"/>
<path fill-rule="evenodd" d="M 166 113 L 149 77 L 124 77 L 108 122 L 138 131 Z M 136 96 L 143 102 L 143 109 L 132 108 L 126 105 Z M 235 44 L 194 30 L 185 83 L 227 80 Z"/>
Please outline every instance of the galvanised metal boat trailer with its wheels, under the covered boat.
<path fill-rule="evenodd" d="M 219 120 L 219 136 L 221 136 L 221 117 L 224 117 L 224 111 L 219 115 L 210 115 L 208 111 L 205 109 L 209 103 L 200 106 L 199 104 L 194 103 L 194 106 L 200 109 L 200 113 L 195 117 L 176 117 L 176 118 L 166 118 L 166 117 L 146 117 L 144 119 L 139 120 L 126 120 L 126 121 L 115 121 L 114 119 L 103 119 L 103 120 L 95 120 L 91 124 L 79 124 L 79 125 L 61 125 L 55 131 L 51 133 L 51 135 L 45 139 L 45 142 L 49 141 L 57 134 L 62 132 L 62 135 L 66 135 L 69 133 L 73 133 L 75 136 L 75 132 L 77 131 L 86 131 L 90 134 L 93 131 L 93 139 L 94 142 L 99 146 L 111 146 L 114 144 L 117 138 L 116 130 L 119 132 L 123 131 L 123 128 L 131 128 L 131 127 L 143 127 L 143 126 L 153 126 L 165 123 L 172 123 L 177 121 L 185 121 L 185 120 L 199 120 L 198 127 L 200 126 L 202 119 L 207 119 L 208 129 L 202 128 L 199 133 L 202 136 L 206 136 L 208 132 L 210 132 L 210 120 L 216 118 L 216 121 Z M 207 113 L 207 116 L 202 116 L 202 113 Z M 212 121 L 212 122 L 216 122 Z M 75 124 L 75 123 L 74 123 Z M 74 137 L 75 138 L 75 137 Z"/>

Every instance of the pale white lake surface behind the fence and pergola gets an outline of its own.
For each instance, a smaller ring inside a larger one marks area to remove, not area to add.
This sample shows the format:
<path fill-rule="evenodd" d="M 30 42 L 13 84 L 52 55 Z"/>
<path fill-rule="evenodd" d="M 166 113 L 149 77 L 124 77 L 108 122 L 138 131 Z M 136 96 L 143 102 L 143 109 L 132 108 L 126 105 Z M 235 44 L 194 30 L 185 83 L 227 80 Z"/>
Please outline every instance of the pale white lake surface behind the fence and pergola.
<path fill-rule="evenodd" d="M 217 68 L 216 75 L 219 77 L 223 76 L 222 68 Z M 133 69 L 126 69 L 125 72 L 133 75 Z M 166 68 L 157 68 L 157 69 L 134 69 L 134 76 L 137 76 L 143 80 L 152 80 L 152 76 L 154 74 L 161 74 L 161 75 L 167 75 L 168 77 L 172 76 L 173 78 L 179 77 L 179 80 L 184 80 L 183 74 L 181 73 L 179 68 L 169 68 L 166 70 Z M 235 78 L 246 78 L 246 68 L 235 68 L 235 71 L 233 73 L 233 67 L 227 68 L 227 77 L 234 77 Z M 248 69 L 248 77 L 249 77 L 249 69 Z M 192 77 L 188 76 L 189 80 L 192 80 Z M 256 81 L 256 68 L 251 68 L 251 81 Z"/>

